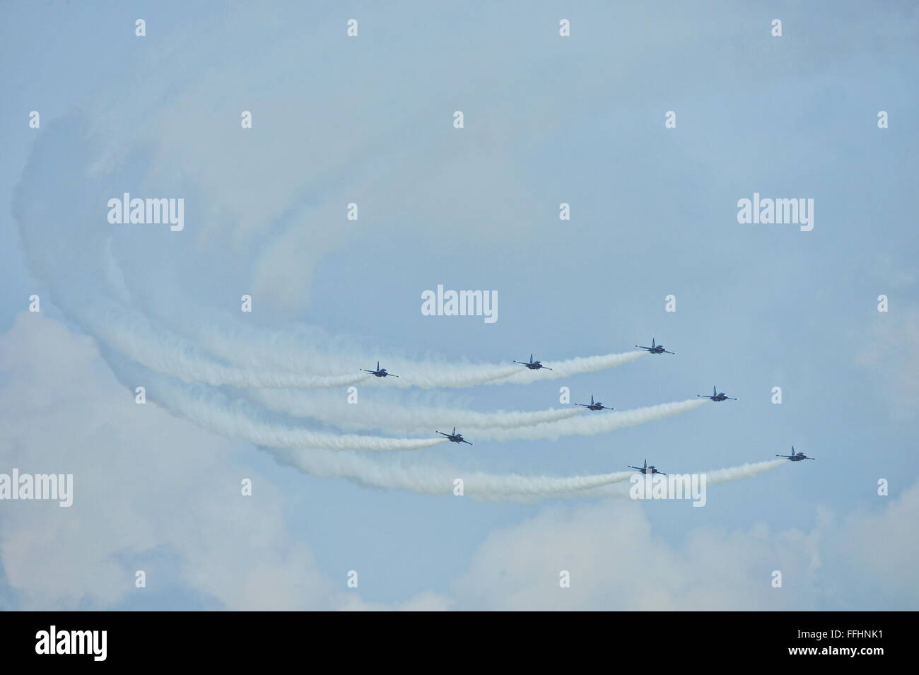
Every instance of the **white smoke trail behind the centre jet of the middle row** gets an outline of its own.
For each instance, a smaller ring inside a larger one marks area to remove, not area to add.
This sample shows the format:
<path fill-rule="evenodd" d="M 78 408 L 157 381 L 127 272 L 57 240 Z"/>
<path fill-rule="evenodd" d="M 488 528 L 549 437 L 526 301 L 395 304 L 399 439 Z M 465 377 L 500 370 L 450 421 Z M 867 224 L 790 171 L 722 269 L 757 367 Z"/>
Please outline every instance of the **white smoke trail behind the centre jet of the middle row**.
<path fill-rule="evenodd" d="M 295 389 L 254 389 L 250 399 L 293 417 L 335 424 L 347 431 L 386 430 L 410 435 L 456 426 L 463 432 L 478 429 L 508 429 L 576 417 L 583 408 L 553 408 L 545 411 L 478 412 L 369 399 L 363 394 L 356 405 L 335 392 Z"/>

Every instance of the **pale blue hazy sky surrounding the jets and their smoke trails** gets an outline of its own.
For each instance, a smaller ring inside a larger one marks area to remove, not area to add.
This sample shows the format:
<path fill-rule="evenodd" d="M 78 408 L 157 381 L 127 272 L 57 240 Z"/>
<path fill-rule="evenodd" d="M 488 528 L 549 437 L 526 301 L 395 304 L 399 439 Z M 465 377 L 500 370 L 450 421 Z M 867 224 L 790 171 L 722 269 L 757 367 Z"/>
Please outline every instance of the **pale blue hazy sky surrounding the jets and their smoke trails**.
<path fill-rule="evenodd" d="M 72 466 L 78 489 L 81 473 L 97 489 L 77 496 L 83 511 L 4 507 L 0 602 L 915 608 L 917 549 L 903 536 L 919 507 L 912 4 L 2 11 L 0 388 L 12 442 L 0 471 Z M 253 129 L 240 129 L 243 110 Z M 668 110 L 676 129 L 664 128 Z M 185 231 L 114 229 L 95 205 L 122 191 L 184 197 Z M 754 192 L 813 198 L 813 230 L 739 224 L 737 200 Z M 476 502 L 305 476 L 153 406 L 134 410 L 106 348 L 55 305 L 98 286 L 100 258 L 76 252 L 107 239 L 132 309 L 188 336 L 202 316 L 318 326 L 333 346 L 362 345 L 355 367 L 531 352 L 549 363 L 652 336 L 678 353 L 527 386 L 368 390 L 374 399 L 541 410 L 567 386 L 630 409 L 712 384 L 740 397 L 614 433 L 399 461 L 576 476 L 644 457 L 678 472 L 733 467 L 791 444 L 819 459 L 713 487 L 703 509 Z M 423 316 L 421 293 L 438 284 L 496 290 L 498 321 Z M 33 293 L 40 317 L 23 314 Z M 238 311 L 243 293 L 251 315 Z M 234 492 L 242 477 L 255 482 L 248 504 Z M 879 478 L 890 496 L 877 495 Z M 109 521 L 113 502 L 130 519 Z M 28 533 L 73 562 L 30 566 L 44 549 Z M 560 596 L 552 570 L 565 565 L 573 592 Z M 141 568 L 155 581 L 138 591 Z M 777 568 L 785 589 L 769 586 Z M 350 569 L 359 589 L 344 586 Z M 662 579 L 660 596 L 620 585 L 635 574 Z"/>

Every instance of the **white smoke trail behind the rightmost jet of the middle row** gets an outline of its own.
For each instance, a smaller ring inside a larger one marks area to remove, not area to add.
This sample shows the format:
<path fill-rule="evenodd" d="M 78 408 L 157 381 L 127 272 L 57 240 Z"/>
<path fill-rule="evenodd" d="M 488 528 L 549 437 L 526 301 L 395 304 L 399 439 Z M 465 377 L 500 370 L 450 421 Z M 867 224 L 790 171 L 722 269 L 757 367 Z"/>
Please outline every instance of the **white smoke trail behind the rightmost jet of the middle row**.
<path fill-rule="evenodd" d="M 708 402 L 709 399 L 688 399 L 674 403 L 661 403 L 648 408 L 636 408 L 631 411 L 592 411 L 568 420 L 542 422 L 528 427 L 483 429 L 476 433 L 475 440 L 539 440 L 555 439 L 559 436 L 573 434 L 585 436 L 606 433 L 645 422 L 663 420 L 681 412 L 694 411 Z"/>

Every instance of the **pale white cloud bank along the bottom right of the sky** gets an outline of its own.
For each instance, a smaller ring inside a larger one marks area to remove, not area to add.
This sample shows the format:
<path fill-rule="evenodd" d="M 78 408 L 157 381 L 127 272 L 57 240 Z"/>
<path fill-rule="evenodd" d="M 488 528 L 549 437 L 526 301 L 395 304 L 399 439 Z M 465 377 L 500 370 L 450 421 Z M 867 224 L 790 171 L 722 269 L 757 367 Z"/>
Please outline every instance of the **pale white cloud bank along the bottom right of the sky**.
<path fill-rule="evenodd" d="M 919 589 L 919 548 L 904 536 L 919 484 L 882 512 L 825 512 L 809 532 L 701 526 L 680 542 L 652 532 L 646 506 L 605 501 L 547 509 L 495 531 L 454 588 L 457 609 L 775 611 L 847 607 L 871 592 Z M 840 560 L 845 560 L 845 564 Z M 561 588 L 560 573 L 571 575 Z M 771 584 L 782 573 L 782 587 Z M 876 596 L 876 600 L 879 598 Z"/>

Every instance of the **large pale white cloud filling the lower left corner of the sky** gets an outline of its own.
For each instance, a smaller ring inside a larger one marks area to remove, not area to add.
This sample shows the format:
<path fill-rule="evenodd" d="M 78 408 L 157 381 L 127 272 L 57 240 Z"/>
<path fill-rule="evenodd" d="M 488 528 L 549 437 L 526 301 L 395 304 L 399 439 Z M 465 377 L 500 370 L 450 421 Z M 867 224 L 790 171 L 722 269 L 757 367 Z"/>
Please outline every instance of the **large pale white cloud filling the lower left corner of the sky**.
<path fill-rule="evenodd" d="M 183 585 L 227 609 L 334 608 L 337 587 L 284 527 L 283 497 L 233 444 L 137 405 L 62 323 L 22 313 L 0 336 L 0 470 L 74 474 L 74 505 L 4 501 L 0 560 L 21 609 L 104 608 L 154 592 L 163 547 Z M 253 496 L 241 496 L 251 478 Z M 146 590 L 134 568 L 147 568 Z"/>

